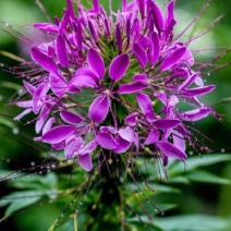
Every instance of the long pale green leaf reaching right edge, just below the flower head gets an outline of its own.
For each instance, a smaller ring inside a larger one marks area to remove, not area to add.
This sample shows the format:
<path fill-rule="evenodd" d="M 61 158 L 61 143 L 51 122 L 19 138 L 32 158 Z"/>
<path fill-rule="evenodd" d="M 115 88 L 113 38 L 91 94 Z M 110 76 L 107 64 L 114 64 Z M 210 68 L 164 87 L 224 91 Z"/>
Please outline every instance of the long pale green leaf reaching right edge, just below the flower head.
<path fill-rule="evenodd" d="M 175 161 L 168 168 L 169 177 L 190 172 L 199 167 L 210 166 L 222 161 L 231 161 L 231 154 L 210 154 L 197 157 L 190 157 L 184 163 Z"/>

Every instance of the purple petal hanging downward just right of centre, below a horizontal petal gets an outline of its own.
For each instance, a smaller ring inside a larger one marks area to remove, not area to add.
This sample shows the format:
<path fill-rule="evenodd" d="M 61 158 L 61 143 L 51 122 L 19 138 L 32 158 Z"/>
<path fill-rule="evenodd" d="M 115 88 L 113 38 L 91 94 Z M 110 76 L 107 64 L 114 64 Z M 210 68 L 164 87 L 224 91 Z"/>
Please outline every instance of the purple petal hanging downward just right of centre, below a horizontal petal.
<path fill-rule="evenodd" d="M 147 118 L 149 122 L 154 121 L 154 109 L 151 105 L 151 100 L 148 95 L 144 93 L 137 94 L 138 106 L 142 109 L 143 114 Z"/>

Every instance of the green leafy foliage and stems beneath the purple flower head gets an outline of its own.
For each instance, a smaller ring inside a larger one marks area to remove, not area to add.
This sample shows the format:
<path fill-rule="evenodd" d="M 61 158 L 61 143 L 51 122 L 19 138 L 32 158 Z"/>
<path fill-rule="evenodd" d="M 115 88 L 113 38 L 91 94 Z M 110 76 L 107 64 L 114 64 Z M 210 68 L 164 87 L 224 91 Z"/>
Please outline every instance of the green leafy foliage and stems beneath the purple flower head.
<path fill-rule="evenodd" d="M 151 159 L 149 160 L 153 162 Z M 81 173 L 77 166 L 72 170 L 72 179 L 66 171 L 61 174 L 52 171 L 42 175 L 28 174 L 28 177 L 24 174 L 25 172 L 16 173 L 16 177 L 11 178 L 13 180 L 8 181 L 9 186 L 14 190 L 0 199 L 0 207 L 5 208 L 2 219 L 34 207 L 38 203 L 46 204 L 46 202 L 52 200 L 59 205 L 60 216 L 57 215 L 50 231 L 74 230 L 74 226 L 88 227 L 90 230 L 99 230 L 100 227 L 121 230 L 121 227 L 124 227 L 124 230 L 149 228 L 157 231 L 183 231 L 190 230 L 196 220 L 196 222 L 200 222 L 200 226 L 196 227 L 197 223 L 195 223 L 195 231 L 206 231 L 210 227 L 212 227 L 210 229 L 212 231 L 226 230 L 227 219 L 205 215 L 159 217 L 158 208 L 167 214 L 178 208 L 178 204 L 172 204 L 172 199 L 162 202 L 161 197 L 183 195 L 181 190 L 183 184 L 190 182 L 229 184 L 229 180 L 212 174 L 205 168 L 229 160 L 231 158 L 228 154 L 205 155 L 203 159 L 191 157 L 186 161 L 186 169 L 182 166 L 184 163 L 180 165 L 174 161 L 167 169 L 168 180 L 163 177 L 161 181 L 157 175 L 153 180 L 145 181 L 147 173 L 145 168 L 141 168 L 141 171 L 135 168 L 127 170 L 125 175 L 124 173 L 120 175 L 120 179 L 114 175 L 112 178 L 99 175 L 99 172 L 96 171 L 87 181 L 84 181 L 86 174 Z M 143 160 L 134 161 L 134 166 L 139 165 L 144 166 Z M 65 169 L 70 165 L 64 166 Z M 105 173 L 107 174 L 107 172 Z M 70 180 L 72 185 L 70 185 Z M 88 191 L 89 183 L 92 187 Z M 205 221 L 205 218 L 209 222 Z"/>

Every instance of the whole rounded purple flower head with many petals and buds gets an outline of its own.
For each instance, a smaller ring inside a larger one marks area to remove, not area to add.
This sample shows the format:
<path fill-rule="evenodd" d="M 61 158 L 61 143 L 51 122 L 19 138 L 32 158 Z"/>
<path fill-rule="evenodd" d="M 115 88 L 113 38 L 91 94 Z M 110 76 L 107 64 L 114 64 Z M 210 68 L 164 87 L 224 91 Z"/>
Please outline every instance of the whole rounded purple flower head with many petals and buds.
<path fill-rule="evenodd" d="M 204 85 L 187 44 L 173 37 L 174 1 L 162 12 L 154 0 L 122 0 L 109 15 L 98 0 L 77 13 L 66 3 L 61 20 L 34 25 L 44 42 L 32 46 L 36 74 L 25 75 L 15 120 L 36 114 L 35 139 L 87 171 L 106 150 L 184 161 L 186 144 L 196 148 L 185 121 L 212 113 L 199 97 L 215 86 Z"/>

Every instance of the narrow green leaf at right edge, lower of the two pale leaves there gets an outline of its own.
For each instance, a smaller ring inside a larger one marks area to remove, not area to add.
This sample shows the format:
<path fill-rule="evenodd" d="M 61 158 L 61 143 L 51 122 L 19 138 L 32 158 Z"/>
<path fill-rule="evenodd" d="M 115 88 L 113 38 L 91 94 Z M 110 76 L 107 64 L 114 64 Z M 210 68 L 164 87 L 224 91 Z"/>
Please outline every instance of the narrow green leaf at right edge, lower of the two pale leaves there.
<path fill-rule="evenodd" d="M 206 171 L 193 171 L 186 174 L 191 181 L 214 183 L 214 184 L 230 184 L 230 181 L 224 178 L 217 177 Z"/>

